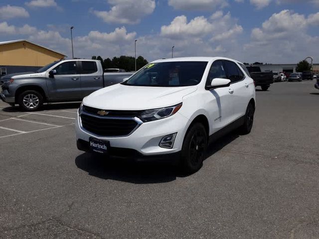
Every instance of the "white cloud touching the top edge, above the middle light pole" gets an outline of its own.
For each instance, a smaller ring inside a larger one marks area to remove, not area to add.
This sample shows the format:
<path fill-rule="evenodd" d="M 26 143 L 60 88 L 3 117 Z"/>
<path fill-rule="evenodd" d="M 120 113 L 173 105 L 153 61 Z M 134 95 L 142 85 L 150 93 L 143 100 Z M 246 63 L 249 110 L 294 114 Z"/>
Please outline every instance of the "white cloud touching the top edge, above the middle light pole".
<path fill-rule="evenodd" d="M 93 10 L 93 14 L 108 23 L 137 24 L 155 9 L 155 0 L 108 0 L 109 11 Z"/>

